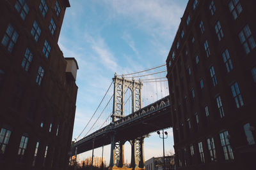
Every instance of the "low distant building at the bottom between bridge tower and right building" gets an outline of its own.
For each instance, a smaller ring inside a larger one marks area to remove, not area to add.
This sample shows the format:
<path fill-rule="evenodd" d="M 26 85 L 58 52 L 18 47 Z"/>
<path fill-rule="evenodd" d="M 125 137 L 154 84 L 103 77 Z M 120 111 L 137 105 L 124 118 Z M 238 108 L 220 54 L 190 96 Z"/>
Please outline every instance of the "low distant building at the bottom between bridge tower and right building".
<path fill-rule="evenodd" d="M 152 157 L 145 161 L 146 170 L 163 170 L 163 157 Z M 174 156 L 165 157 L 165 169 L 174 170 Z"/>

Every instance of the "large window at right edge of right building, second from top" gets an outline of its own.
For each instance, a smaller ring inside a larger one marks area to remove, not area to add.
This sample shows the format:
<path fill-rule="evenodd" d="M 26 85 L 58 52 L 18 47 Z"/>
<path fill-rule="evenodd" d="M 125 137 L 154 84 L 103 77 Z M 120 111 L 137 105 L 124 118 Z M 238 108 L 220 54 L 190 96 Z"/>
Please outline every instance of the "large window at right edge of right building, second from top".
<path fill-rule="evenodd" d="M 248 25 L 245 25 L 243 30 L 239 32 L 239 39 L 244 47 L 246 54 L 250 53 L 250 51 L 256 46 L 252 32 L 250 31 Z"/>

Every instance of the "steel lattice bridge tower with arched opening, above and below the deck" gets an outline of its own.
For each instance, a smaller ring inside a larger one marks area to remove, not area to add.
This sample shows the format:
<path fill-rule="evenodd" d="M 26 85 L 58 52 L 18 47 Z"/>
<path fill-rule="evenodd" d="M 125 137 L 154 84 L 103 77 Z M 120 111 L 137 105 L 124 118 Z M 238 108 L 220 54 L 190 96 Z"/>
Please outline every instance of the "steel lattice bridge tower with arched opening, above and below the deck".
<path fill-rule="evenodd" d="M 122 76 L 118 77 L 115 73 L 115 77 L 113 78 L 114 82 L 114 96 L 113 96 L 113 113 L 111 115 L 112 122 L 124 117 L 124 96 L 125 90 L 129 88 L 131 90 L 131 101 L 132 108 L 131 111 L 141 109 L 141 88 L 143 84 L 141 81 L 127 80 Z M 131 114 L 131 113 L 129 113 Z M 131 167 L 134 169 L 135 167 L 144 167 L 144 151 L 143 151 L 143 142 L 144 138 L 132 139 L 129 141 L 131 143 L 132 155 L 131 155 Z M 124 143 L 125 141 L 116 141 L 115 140 L 115 132 L 111 134 L 111 155 L 109 167 L 113 169 L 118 169 L 118 167 L 124 166 Z"/>

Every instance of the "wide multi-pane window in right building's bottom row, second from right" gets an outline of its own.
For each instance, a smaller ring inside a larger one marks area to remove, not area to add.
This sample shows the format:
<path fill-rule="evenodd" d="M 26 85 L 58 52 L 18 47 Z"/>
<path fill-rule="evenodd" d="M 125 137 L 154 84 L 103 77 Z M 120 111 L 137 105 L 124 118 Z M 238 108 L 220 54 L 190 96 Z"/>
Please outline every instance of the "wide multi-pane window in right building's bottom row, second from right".
<path fill-rule="evenodd" d="M 233 150 L 230 146 L 229 139 L 228 139 L 229 137 L 230 136 L 228 134 L 228 131 L 224 131 L 220 133 L 220 141 L 221 141 L 221 146 L 223 148 L 225 160 L 234 159 Z"/>

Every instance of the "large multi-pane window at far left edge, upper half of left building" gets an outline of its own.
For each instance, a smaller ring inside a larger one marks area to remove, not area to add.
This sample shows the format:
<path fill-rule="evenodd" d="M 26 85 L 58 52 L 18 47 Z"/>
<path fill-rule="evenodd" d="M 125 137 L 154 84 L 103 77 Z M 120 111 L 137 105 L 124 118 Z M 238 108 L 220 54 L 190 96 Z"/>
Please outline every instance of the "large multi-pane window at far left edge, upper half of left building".
<path fill-rule="evenodd" d="M 19 34 L 13 29 L 12 25 L 9 24 L 5 31 L 4 38 L 2 39 L 2 45 L 7 47 L 8 52 L 12 52 L 18 37 Z"/>

